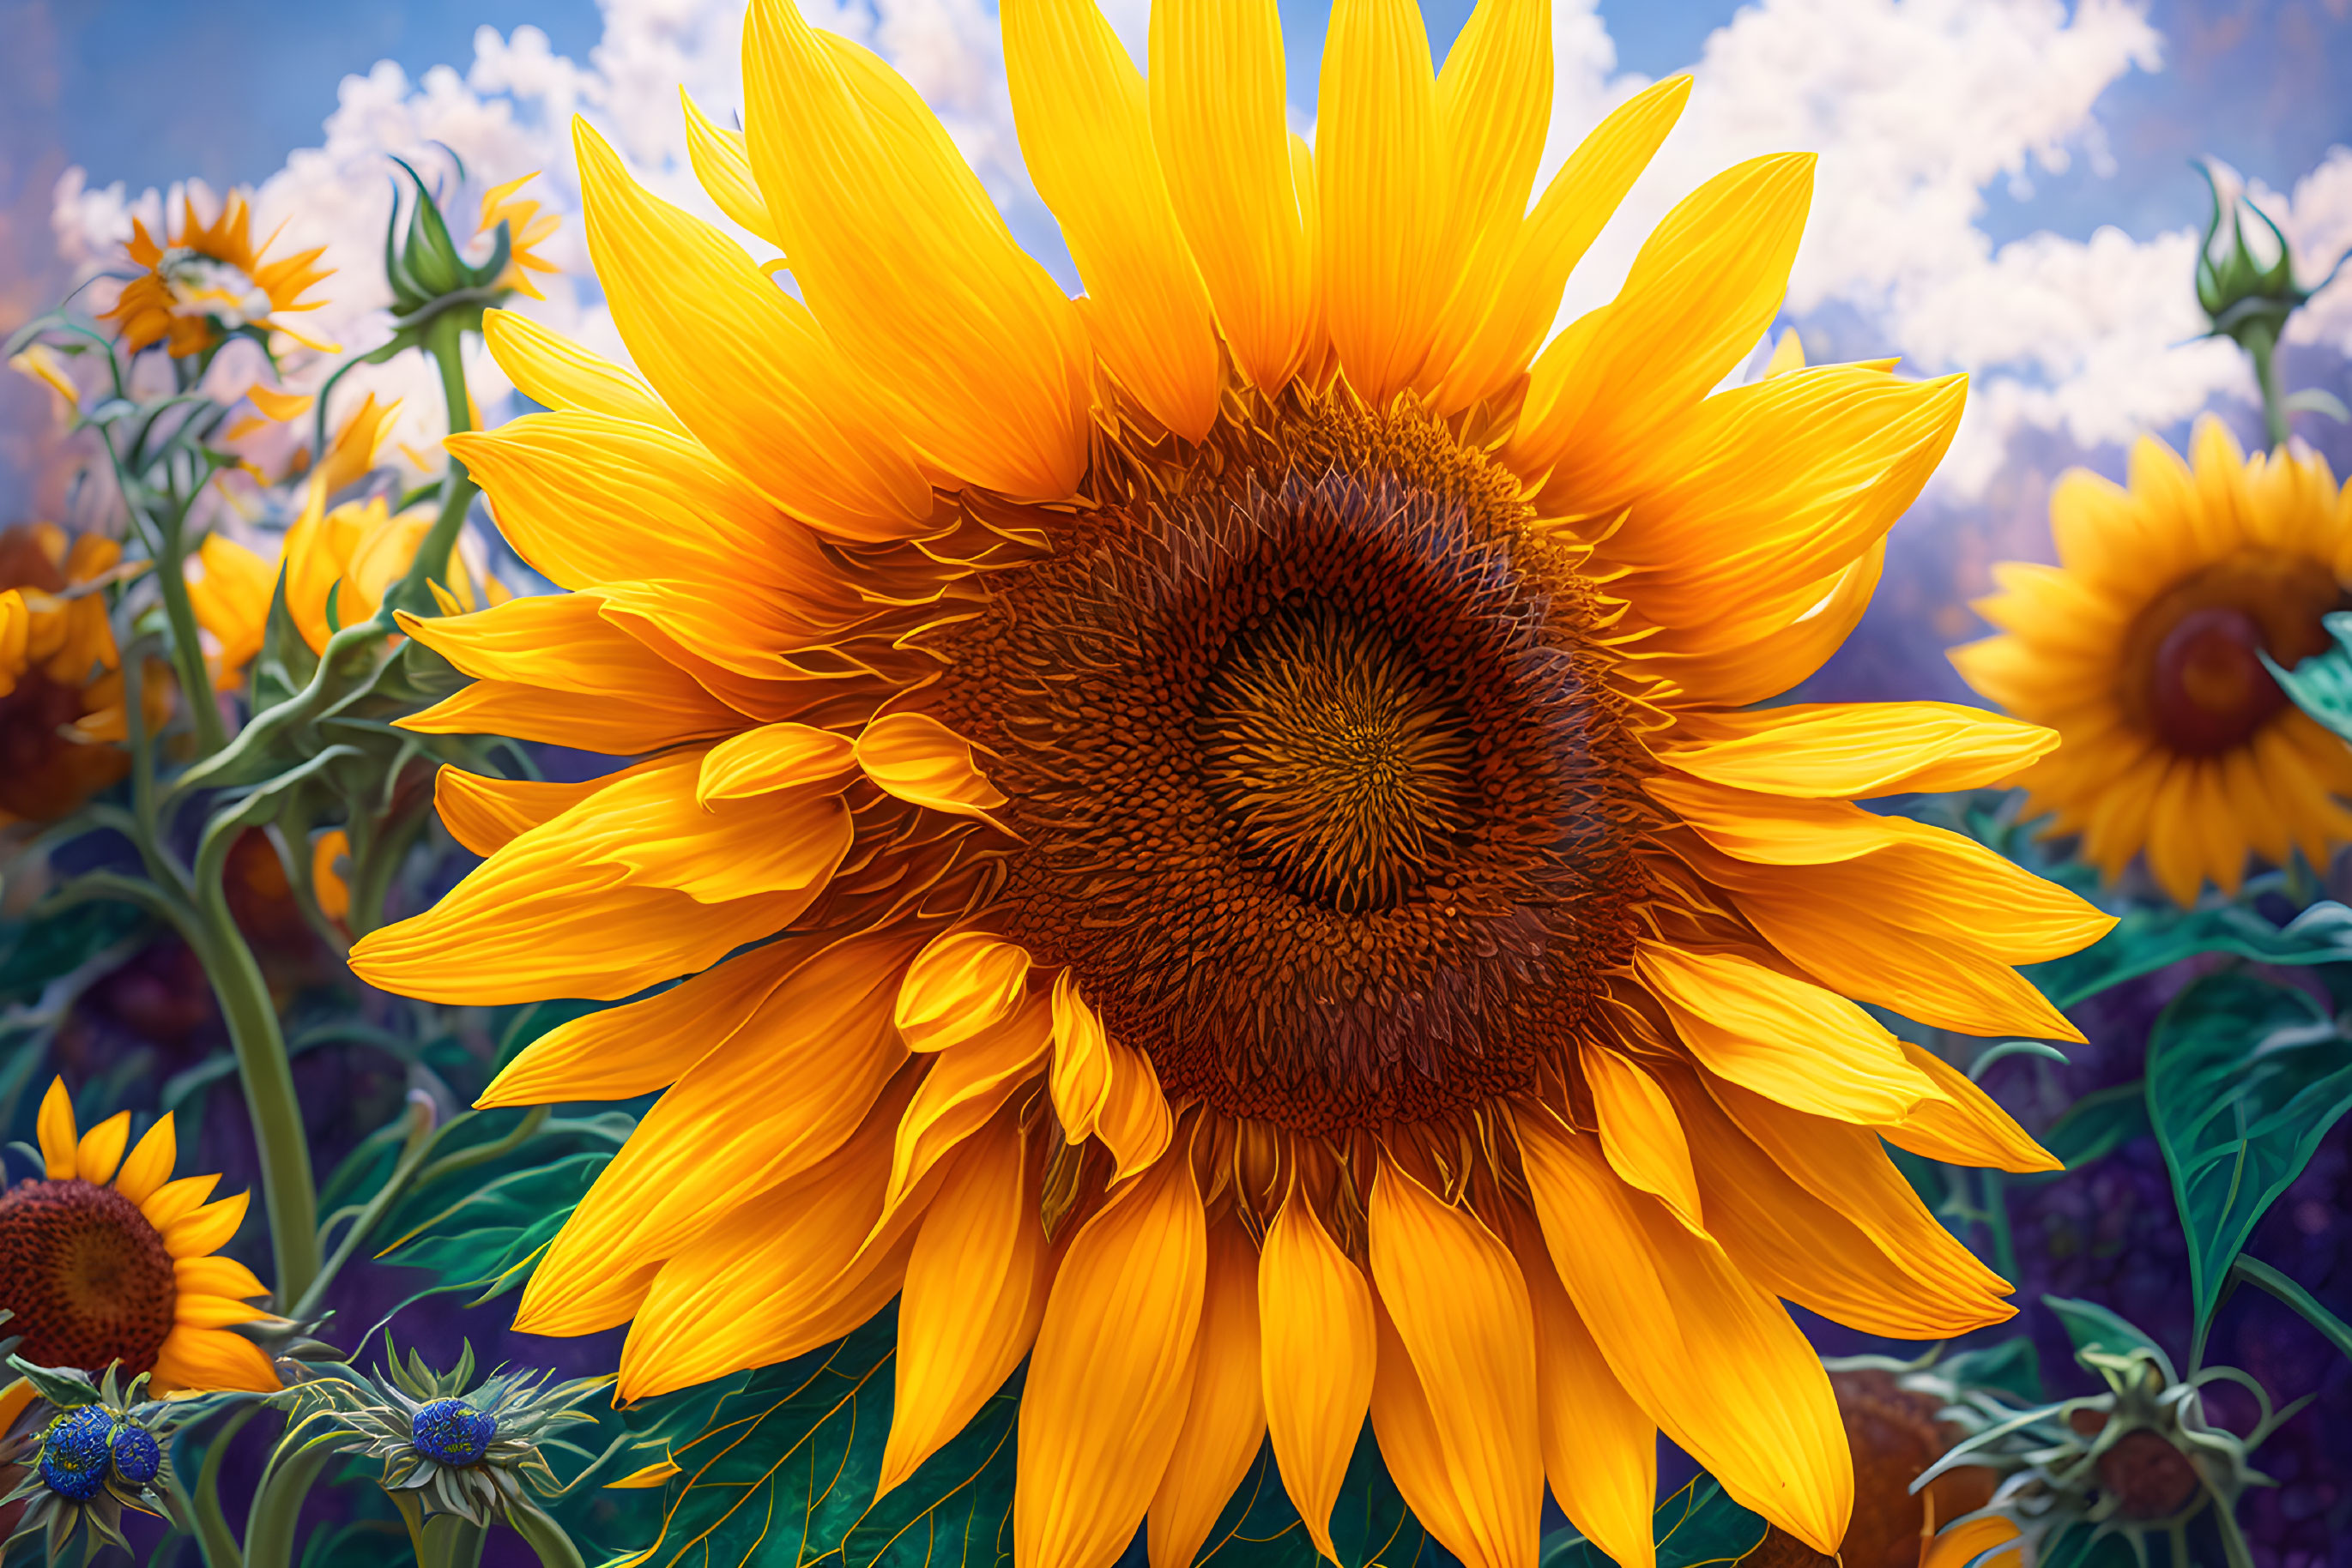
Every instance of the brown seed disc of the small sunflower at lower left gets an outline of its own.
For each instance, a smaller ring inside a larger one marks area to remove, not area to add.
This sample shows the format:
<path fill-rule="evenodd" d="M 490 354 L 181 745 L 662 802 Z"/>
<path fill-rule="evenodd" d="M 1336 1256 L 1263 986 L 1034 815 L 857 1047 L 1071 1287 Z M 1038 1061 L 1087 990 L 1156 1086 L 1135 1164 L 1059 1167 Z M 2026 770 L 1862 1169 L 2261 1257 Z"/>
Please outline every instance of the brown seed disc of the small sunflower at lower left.
<path fill-rule="evenodd" d="M 26 1361 L 153 1371 L 176 1298 L 162 1234 L 113 1187 L 26 1180 L 0 1194 L 0 1307 Z"/>

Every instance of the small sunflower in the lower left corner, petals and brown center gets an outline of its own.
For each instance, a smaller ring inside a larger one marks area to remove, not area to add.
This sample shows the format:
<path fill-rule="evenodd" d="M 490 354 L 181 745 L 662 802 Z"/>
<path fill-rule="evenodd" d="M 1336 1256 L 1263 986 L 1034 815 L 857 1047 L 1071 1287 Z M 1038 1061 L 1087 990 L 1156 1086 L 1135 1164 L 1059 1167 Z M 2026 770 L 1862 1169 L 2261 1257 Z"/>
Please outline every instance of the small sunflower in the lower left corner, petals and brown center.
<path fill-rule="evenodd" d="M 216 1248 L 245 1222 L 247 1194 L 216 1201 L 219 1175 L 172 1180 L 172 1117 L 129 1154 L 132 1117 L 75 1133 L 64 1079 L 40 1103 L 47 1180 L 0 1194 L 0 1307 L 38 1366 L 153 1373 L 158 1392 L 275 1389 L 278 1373 L 230 1324 L 266 1319 L 254 1272 Z"/>

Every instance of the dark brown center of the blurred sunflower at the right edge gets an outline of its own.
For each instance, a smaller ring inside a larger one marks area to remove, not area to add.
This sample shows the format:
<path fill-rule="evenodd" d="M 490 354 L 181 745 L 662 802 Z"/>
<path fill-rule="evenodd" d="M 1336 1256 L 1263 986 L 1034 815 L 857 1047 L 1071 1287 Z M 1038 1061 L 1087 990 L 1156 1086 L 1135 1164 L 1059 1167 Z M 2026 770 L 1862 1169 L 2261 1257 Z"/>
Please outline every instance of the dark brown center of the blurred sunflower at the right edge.
<path fill-rule="evenodd" d="M 2246 745 L 2288 703 L 2263 654 L 2293 668 L 2328 646 L 2336 574 L 2291 555 L 2216 562 L 2157 597 L 2124 639 L 2124 712 L 2169 750 L 2213 757 Z"/>

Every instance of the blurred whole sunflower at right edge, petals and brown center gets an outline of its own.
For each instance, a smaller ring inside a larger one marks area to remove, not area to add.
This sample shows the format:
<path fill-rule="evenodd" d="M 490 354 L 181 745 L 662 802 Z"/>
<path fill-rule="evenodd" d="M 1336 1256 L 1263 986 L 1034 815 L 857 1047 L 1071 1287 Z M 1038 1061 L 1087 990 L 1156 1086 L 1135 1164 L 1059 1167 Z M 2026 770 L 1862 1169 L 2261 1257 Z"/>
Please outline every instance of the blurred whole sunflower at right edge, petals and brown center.
<path fill-rule="evenodd" d="M 2173 903 L 2234 896 L 2246 856 L 2326 865 L 2352 839 L 2352 752 L 2263 668 L 2331 644 L 2352 607 L 2352 491 L 2326 458 L 2249 458 L 2197 423 L 2192 463 L 2143 437 L 2131 487 L 2082 468 L 2051 491 L 2058 567 L 2002 562 L 1976 604 L 2006 635 L 1952 649 L 1971 686 L 2065 745 L 2020 771 L 2049 832 L 2110 879 L 2133 856 Z"/>

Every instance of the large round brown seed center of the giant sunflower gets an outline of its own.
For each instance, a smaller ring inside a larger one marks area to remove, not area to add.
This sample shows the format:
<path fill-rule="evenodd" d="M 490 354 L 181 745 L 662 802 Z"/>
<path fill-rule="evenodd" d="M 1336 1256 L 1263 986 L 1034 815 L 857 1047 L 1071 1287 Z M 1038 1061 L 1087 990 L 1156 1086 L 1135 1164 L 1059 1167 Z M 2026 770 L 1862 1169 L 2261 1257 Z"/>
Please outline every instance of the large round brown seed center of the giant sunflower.
<path fill-rule="evenodd" d="M 1096 494 L 934 639 L 1021 835 L 1002 936 L 1237 1119 L 1531 1084 L 1630 950 L 1646 820 L 1573 552 L 1437 421 L 1298 395 Z"/>

